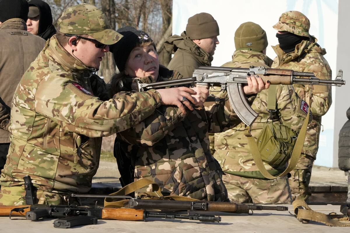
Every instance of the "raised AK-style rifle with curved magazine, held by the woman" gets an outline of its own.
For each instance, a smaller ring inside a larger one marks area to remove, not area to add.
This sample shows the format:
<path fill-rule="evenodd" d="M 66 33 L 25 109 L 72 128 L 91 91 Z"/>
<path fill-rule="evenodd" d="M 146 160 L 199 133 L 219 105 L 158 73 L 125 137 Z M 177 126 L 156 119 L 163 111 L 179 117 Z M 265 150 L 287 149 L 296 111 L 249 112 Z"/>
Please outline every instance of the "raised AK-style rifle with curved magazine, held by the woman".
<path fill-rule="evenodd" d="M 264 82 L 269 81 L 271 84 L 290 85 L 294 83 L 309 85 L 327 85 L 342 86 L 345 85 L 343 80 L 343 71 L 339 70 L 335 80 L 322 80 L 315 77 L 312 72 L 296 72 L 293 70 L 273 69 L 265 67 L 250 68 L 230 68 L 215 66 L 200 66 L 193 72 L 191 78 L 183 78 L 176 80 L 161 81 L 155 83 L 138 82 L 138 91 L 147 89 L 156 89 L 169 86 L 182 86 L 194 84 L 209 88 L 217 86 L 218 91 L 226 90 L 228 92 L 229 101 L 238 117 L 246 125 L 251 125 L 258 114 L 248 104 L 244 92 L 243 85 L 247 83 L 247 76 L 258 74 Z M 300 77 L 300 78 L 297 78 Z"/>

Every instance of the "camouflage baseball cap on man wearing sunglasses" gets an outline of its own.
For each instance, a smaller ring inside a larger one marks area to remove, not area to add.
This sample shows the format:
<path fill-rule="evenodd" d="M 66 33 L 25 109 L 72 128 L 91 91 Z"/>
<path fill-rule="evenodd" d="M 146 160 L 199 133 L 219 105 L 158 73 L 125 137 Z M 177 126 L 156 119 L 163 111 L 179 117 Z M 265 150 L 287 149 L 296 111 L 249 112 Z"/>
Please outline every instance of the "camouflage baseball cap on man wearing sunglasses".
<path fill-rule="evenodd" d="M 90 35 L 103 44 L 114 44 L 121 37 L 109 28 L 106 15 L 96 6 L 82 3 L 67 8 L 57 20 L 57 30 L 70 35 Z"/>

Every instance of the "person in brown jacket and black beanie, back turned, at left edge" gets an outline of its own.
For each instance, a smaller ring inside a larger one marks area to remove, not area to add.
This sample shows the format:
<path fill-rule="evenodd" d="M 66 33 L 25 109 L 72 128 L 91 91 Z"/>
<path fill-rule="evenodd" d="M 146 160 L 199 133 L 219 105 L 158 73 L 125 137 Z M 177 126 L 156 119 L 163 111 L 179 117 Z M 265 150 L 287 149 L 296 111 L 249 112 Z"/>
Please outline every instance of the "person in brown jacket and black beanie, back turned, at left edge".
<path fill-rule="evenodd" d="M 13 94 L 45 46 L 44 39 L 27 32 L 28 8 L 26 0 L 0 0 L 0 171 L 10 145 L 7 129 Z"/>

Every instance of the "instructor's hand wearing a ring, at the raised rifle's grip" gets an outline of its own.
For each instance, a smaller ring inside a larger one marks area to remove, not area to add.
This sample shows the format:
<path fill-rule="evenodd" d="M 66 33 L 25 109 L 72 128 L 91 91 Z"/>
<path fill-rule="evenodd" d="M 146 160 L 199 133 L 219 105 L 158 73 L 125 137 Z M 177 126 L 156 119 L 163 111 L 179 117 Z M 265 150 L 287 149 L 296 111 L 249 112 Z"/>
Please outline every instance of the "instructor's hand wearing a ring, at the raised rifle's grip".
<path fill-rule="evenodd" d="M 196 99 L 191 96 L 195 95 L 196 92 L 188 87 L 174 87 L 167 89 L 158 89 L 157 92 L 162 97 L 163 105 L 176 105 L 180 108 L 183 114 L 186 114 L 186 108 L 189 110 L 193 110 L 193 104 L 197 104 Z M 184 98 L 185 97 L 185 98 Z"/>

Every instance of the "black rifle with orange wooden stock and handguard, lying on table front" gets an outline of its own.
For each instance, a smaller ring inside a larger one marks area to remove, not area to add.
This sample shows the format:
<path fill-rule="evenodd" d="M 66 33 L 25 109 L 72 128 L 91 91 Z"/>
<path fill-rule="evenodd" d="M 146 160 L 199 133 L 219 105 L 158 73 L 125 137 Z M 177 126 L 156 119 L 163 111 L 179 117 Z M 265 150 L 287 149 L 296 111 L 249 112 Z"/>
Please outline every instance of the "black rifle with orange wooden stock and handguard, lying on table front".
<path fill-rule="evenodd" d="M 60 218 L 54 221 L 57 228 L 68 228 L 76 225 L 97 224 L 97 219 L 116 220 L 146 220 L 147 218 L 188 219 L 201 222 L 219 222 L 221 217 L 204 214 L 173 214 L 151 212 L 143 209 L 103 208 L 98 206 L 76 205 L 0 205 L 0 216 L 22 216 L 28 220 L 38 220 L 45 217 Z"/>

